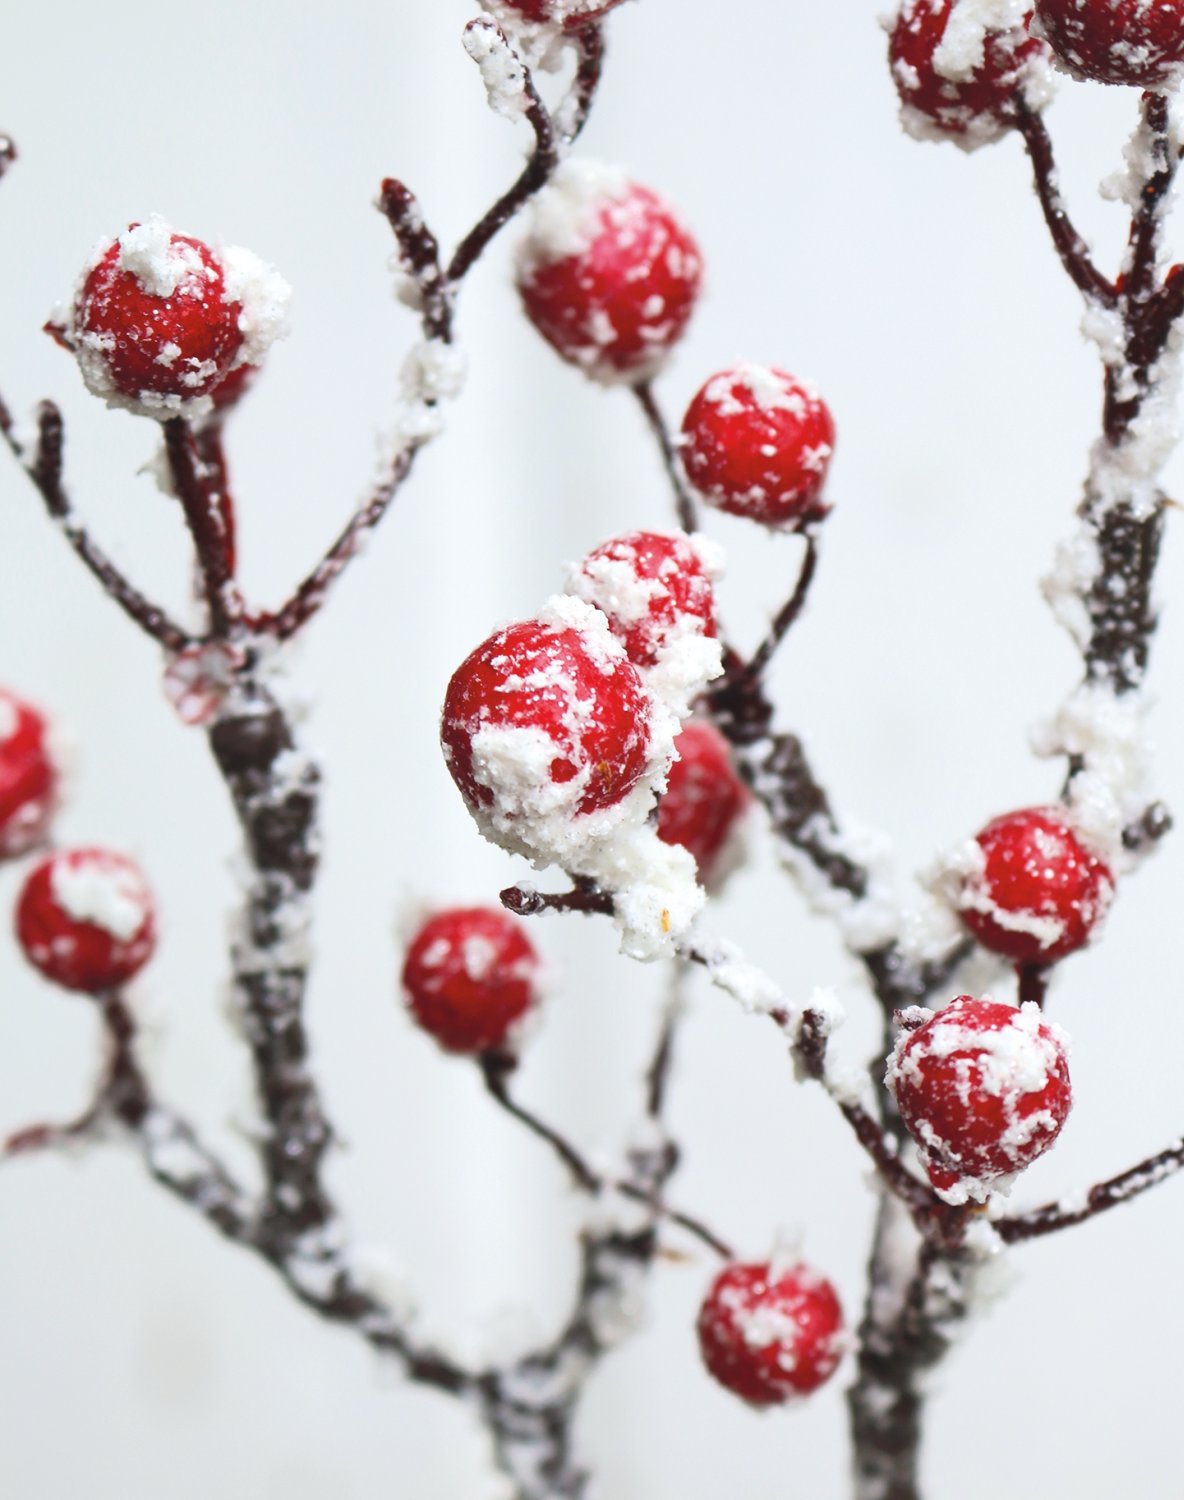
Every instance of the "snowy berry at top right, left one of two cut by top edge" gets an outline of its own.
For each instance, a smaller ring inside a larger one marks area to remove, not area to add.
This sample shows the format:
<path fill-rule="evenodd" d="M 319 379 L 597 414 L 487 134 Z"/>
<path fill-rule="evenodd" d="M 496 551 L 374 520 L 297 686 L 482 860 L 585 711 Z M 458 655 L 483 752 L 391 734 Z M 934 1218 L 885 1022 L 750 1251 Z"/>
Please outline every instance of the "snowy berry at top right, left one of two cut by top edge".
<path fill-rule="evenodd" d="M 1049 50 L 1028 34 L 1031 14 L 1020 0 L 905 0 L 888 62 L 909 135 L 972 150 L 1011 129 L 1017 100 L 1043 108 Z"/>

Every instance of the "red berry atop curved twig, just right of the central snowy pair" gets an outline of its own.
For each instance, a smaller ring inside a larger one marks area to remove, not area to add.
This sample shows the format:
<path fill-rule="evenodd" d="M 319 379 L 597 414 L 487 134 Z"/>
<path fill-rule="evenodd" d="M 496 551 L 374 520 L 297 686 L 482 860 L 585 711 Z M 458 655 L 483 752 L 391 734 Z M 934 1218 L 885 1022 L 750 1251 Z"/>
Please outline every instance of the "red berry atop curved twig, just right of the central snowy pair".
<path fill-rule="evenodd" d="M 834 422 L 806 381 L 762 364 L 713 375 L 683 418 L 683 468 L 711 506 L 768 526 L 825 514 Z"/>

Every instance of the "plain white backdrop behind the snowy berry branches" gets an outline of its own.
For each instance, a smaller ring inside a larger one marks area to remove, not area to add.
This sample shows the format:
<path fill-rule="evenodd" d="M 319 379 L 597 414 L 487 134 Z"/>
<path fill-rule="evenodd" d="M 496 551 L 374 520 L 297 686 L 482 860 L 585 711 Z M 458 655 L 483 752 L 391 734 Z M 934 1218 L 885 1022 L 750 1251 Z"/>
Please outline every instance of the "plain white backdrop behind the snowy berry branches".
<path fill-rule="evenodd" d="M 0 388 L 53 394 L 80 508 L 143 585 L 183 608 L 174 507 L 137 477 L 150 423 L 83 392 L 38 330 L 92 243 L 161 212 L 248 244 L 294 284 L 293 338 L 233 432 L 245 576 L 282 596 L 348 513 L 416 336 L 390 297 L 389 230 L 369 207 L 404 177 L 456 238 L 519 162 L 459 46 L 462 0 L 293 0 L 201 8 L 111 0 L 11 6 L 0 128 L 23 159 L 0 186 Z M 710 291 L 660 393 L 671 411 L 735 357 L 813 376 L 839 423 L 836 510 L 807 618 L 777 662 L 840 808 L 885 830 L 905 867 L 989 816 L 1055 792 L 1026 730 L 1074 681 L 1038 597 L 1070 525 L 1098 378 L 1073 290 L 1046 243 L 1017 141 L 965 159 L 894 118 L 875 8 L 861 0 L 642 0 L 611 24 L 585 148 L 678 204 Z M 1062 88 L 1050 122 L 1077 218 L 1106 264 L 1121 246 L 1097 180 L 1119 164 L 1134 98 Z M 513 236 L 507 236 L 507 240 Z M 440 760 L 444 682 L 489 628 L 531 612 L 561 562 L 614 530 L 668 522 L 633 404 L 560 368 L 521 320 L 509 244 L 471 278 L 471 360 L 449 435 L 425 453 L 381 536 L 293 670 L 327 770 L 326 866 L 311 1024 L 344 1146 L 333 1186 L 384 1246 L 426 1322 L 462 1347 L 506 1310 L 561 1316 L 579 1204 L 542 1148 L 416 1035 L 395 998 L 395 928 L 417 902 L 488 900 L 518 873 L 480 844 Z M 1179 466 L 1172 471 L 1176 483 Z M 1170 480 L 1172 476 L 1169 476 Z M 795 543 L 723 518 L 723 608 L 755 640 Z M 1184 588 L 1169 528 L 1161 592 Z M 1184 626 L 1166 609 L 1154 717 L 1160 789 L 1184 808 Z M 0 470 L 0 681 L 68 732 L 63 842 L 134 852 L 164 944 L 137 986 L 162 1088 L 236 1160 L 248 1077 L 224 1026 L 234 828 L 201 735 L 159 693 L 155 650 L 107 603 L 12 466 Z M 1181 1128 L 1184 981 L 1172 938 L 1179 840 L 1131 882 L 1104 944 L 1058 976 L 1077 1104 L 1022 1202 L 1110 1174 Z M 20 870 L 0 870 L 0 904 Z M 872 1035 L 858 974 L 759 848 L 714 926 L 794 993 L 839 987 Z M 638 1112 L 656 970 L 606 924 L 537 930 L 555 970 L 524 1095 L 588 1149 Z M 96 1028 L 0 945 L 0 1126 L 86 1096 Z M 777 1227 L 854 1317 L 870 1196 L 816 1090 L 794 1089 L 771 1032 L 696 996 L 672 1100 L 681 1203 L 749 1254 Z M 473 1497 L 485 1452 L 467 1416 L 404 1389 L 345 1335 L 150 1185 L 128 1154 L 0 1173 L 0 1491 L 21 1500 Z M 926 1474 L 960 1500 L 1178 1492 L 1184 1182 L 1014 1256 L 1017 1284 L 935 1382 Z M 707 1500 L 845 1494 L 842 1386 L 758 1416 L 710 1384 L 692 1323 L 707 1258 L 665 1264 L 645 1332 L 605 1365 L 581 1419 L 599 1494 Z"/>

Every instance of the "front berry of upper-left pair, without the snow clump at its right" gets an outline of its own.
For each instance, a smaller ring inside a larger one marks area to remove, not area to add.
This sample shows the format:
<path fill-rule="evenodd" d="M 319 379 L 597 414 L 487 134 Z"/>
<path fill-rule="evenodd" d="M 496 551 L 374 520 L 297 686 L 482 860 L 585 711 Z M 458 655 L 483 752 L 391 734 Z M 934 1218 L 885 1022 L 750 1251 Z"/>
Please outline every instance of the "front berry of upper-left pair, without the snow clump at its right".
<path fill-rule="evenodd" d="M 243 345 L 242 304 L 201 240 L 134 224 L 87 272 L 74 339 L 92 390 L 164 405 L 215 390 Z"/>

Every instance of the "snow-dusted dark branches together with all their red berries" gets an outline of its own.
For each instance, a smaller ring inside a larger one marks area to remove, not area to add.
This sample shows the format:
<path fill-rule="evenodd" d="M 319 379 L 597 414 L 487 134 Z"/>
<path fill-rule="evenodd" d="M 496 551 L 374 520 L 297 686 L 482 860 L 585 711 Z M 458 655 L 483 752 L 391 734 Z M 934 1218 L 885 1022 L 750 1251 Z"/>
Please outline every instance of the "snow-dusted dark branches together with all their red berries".
<path fill-rule="evenodd" d="M 461 1400 L 488 1431 L 516 1500 L 588 1492 L 573 1438 L 581 1396 L 677 1238 L 720 1263 L 698 1317 L 708 1374 L 752 1407 L 780 1407 L 818 1390 L 854 1350 L 854 1492 L 917 1500 L 924 1380 L 974 1310 L 983 1270 L 1008 1245 L 1080 1224 L 1184 1167 L 1176 1140 L 1071 1200 L 1008 1208 L 1013 1180 L 1056 1142 L 1070 1112 L 1065 1036 L 1043 1014 L 1059 964 L 1094 939 L 1115 892 L 1170 828 L 1146 790 L 1142 718 L 1184 315 L 1184 276 L 1166 266 L 1163 244 L 1182 150 L 1170 92 L 1184 69 L 1184 3 L 902 0 L 890 22 L 890 66 L 911 134 L 963 150 L 1011 132 L 1023 141 L 1104 381 L 1076 530 L 1046 586 L 1082 660 L 1082 681 L 1041 742 L 1064 760 L 1059 795 L 993 818 L 906 902 L 848 831 L 801 736 L 776 726 L 768 686 L 821 566 L 831 412 L 800 375 L 738 362 L 702 382 L 675 430 L 656 381 L 695 309 L 698 244 L 654 190 L 573 150 L 594 105 L 615 0 L 485 3 L 465 48 L 492 108 L 528 126 L 531 152 L 450 256 L 413 192 L 393 178 L 381 184 L 401 294 L 422 340 L 404 366 L 380 478 L 279 606 L 245 597 L 224 446 L 285 327 L 287 288 L 270 267 L 149 219 L 99 246 L 47 326 L 93 394 L 159 423 L 162 483 L 192 542 L 194 627 L 147 598 L 75 519 L 59 408 L 42 402 L 24 438 L 0 400 L 0 434 L 50 519 L 164 650 L 167 692 L 182 718 L 204 729 L 237 814 L 246 878 L 230 968 L 263 1124 L 263 1185 L 239 1182 L 149 1076 L 128 993 L 156 939 L 149 885 L 116 850 L 50 843 L 60 782 L 48 726 L 11 692 L 0 693 L 0 858 L 33 856 L 17 940 L 51 984 L 95 1000 L 107 1064 L 77 1119 L 18 1131 L 5 1158 L 113 1132 L 131 1142 L 158 1182 L 267 1263 L 305 1306 L 390 1356 L 411 1382 Z M 1094 264 L 1059 190 L 1043 117 L 1053 68 L 1140 92 L 1121 188 L 1127 252 L 1113 278 Z M 557 70 L 567 87 L 549 104 L 537 78 Z M 0 174 L 14 160 L 0 136 Z M 335 1130 L 303 1018 L 320 771 L 300 747 L 276 660 L 441 432 L 462 386 L 461 290 L 519 216 L 527 318 L 591 382 L 633 396 L 680 530 L 633 530 L 594 546 L 561 592 L 494 630 L 443 692 L 444 759 L 480 832 L 537 870 L 554 867 L 561 884 L 516 884 L 501 891 L 500 908 L 431 914 L 404 957 L 408 1012 L 444 1052 L 476 1065 L 489 1100 L 554 1154 L 590 1204 L 558 1332 L 474 1366 L 423 1341 L 414 1320 L 368 1284 L 326 1180 Z M 722 622 L 723 558 L 699 530 L 704 510 L 788 534 L 800 548 L 797 580 L 750 654 Z M 830 992 L 792 999 L 713 932 L 710 897 L 743 858 L 738 831 L 753 807 L 866 974 L 882 1022 L 870 1066 L 836 1054 L 842 1017 Z M 626 956 L 671 972 L 642 1126 L 615 1167 L 594 1162 L 516 1096 L 540 993 L 524 918 L 542 914 L 608 918 Z M 960 993 L 968 960 L 981 969 L 984 958 L 1004 993 Z M 866 1154 L 878 1202 L 854 1334 L 831 1282 L 797 1251 L 741 1256 L 705 1215 L 668 1198 L 678 1148 L 665 1116 L 683 987 L 695 969 L 776 1026 L 797 1078 L 822 1088 Z"/>

